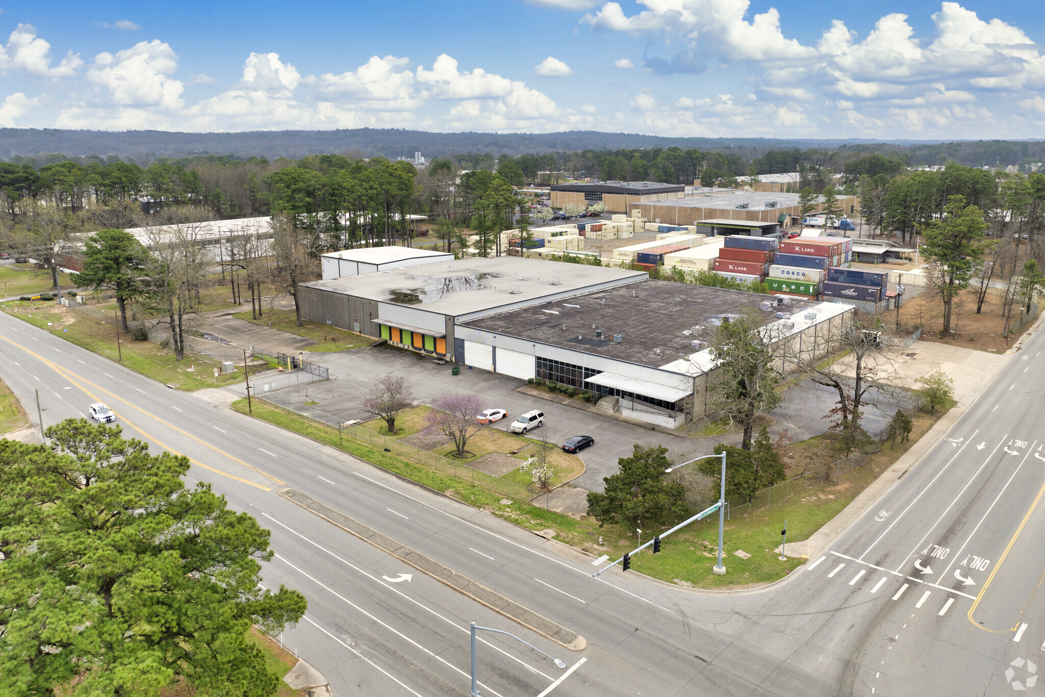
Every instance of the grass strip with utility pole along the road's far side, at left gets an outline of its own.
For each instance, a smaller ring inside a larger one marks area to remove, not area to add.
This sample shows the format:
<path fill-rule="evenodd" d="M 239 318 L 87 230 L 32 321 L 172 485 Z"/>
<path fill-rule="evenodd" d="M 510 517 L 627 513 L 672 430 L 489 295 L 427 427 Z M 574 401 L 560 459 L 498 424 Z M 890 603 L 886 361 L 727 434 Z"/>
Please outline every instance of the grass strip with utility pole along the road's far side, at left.
<path fill-rule="evenodd" d="M 14 311 L 16 307 L 17 312 Z M 2 309 L 11 317 L 46 329 L 76 346 L 113 361 L 119 359 L 115 327 L 112 324 L 53 302 L 8 302 L 2 305 Z M 120 350 L 123 353 L 124 366 L 160 382 L 177 384 L 179 390 L 201 390 L 239 382 L 243 379 L 240 368 L 234 373 L 222 374 L 215 380 L 213 368 L 219 366 L 220 362 L 188 353 L 179 362 L 175 359 L 173 351 L 162 349 L 152 342 L 133 341 L 129 334 L 121 335 Z M 187 371 L 186 369 L 193 364 L 195 370 Z"/>

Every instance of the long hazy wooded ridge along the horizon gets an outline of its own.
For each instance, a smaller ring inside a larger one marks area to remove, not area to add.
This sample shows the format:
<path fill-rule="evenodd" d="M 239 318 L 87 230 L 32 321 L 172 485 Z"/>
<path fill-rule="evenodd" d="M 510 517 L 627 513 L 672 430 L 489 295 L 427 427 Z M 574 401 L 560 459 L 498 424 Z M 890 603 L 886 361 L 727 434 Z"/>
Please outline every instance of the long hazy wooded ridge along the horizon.
<path fill-rule="evenodd" d="M 757 157 L 770 149 L 837 148 L 842 145 L 873 145 L 867 149 L 905 148 L 938 140 L 895 140 L 888 144 L 862 138 L 774 139 L 774 138 L 668 138 L 630 133 L 567 131 L 564 133 L 427 133 L 397 129 L 351 129 L 338 131 L 248 131 L 242 133 L 179 133 L 168 131 L 65 131 L 61 129 L 0 129 L 0 157 L 62 153 L 70 156 L 116 155 L 134 157 L 186 157 L 195 155 L 253 155 L 294 159 L 306 155 L 362 150 L 367 156 L 425 158 L 455 153 L 489 153 L 518 156 L 528 153 L 607 150 L 636 147 L 732 149 L 744 157 Z M 863 149 L 863 148 L 860 148 Z"/>

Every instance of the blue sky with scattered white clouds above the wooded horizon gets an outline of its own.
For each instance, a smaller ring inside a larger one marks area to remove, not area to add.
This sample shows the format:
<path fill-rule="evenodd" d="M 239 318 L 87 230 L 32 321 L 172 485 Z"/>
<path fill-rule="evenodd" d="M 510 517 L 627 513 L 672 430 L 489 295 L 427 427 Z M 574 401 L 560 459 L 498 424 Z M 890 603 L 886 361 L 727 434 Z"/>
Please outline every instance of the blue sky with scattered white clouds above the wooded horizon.
<path fill-rule="evenodd" d="M 0 14 L 0 125 L 1036 138 L 1043 15 L 1026 0 L 25 2 Z"/>

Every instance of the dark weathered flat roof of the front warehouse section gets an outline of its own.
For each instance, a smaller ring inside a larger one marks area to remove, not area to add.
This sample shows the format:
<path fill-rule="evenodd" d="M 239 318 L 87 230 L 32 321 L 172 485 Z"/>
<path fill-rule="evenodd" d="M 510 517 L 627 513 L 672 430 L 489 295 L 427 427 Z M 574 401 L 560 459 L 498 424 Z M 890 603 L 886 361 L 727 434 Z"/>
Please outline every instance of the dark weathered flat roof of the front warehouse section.
<path fill-rule="evenodd" d="M 759 309 L 760 303 L 771 299 L 775 298 L 647 280 L 463 322 L 462 326 L 660 368 L 677 361 L 680 354 L 692 354 L 695 349 L 690 342 L 707 341 L 722 315 L 739 315 L 751 308 L 765 320 L 764 324 L 775 321 L 774 312 Z M 782 309 L 797 313 L 819 304 L 791 298 L 791 304 Z M 595 338 L 591 325 L 602 329 L 604 339 Z M 620 344 L 610 341 L 614 333 L 623 334 Z"/>

